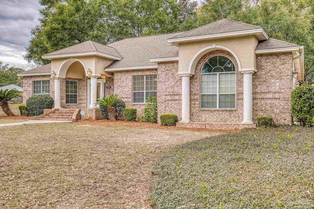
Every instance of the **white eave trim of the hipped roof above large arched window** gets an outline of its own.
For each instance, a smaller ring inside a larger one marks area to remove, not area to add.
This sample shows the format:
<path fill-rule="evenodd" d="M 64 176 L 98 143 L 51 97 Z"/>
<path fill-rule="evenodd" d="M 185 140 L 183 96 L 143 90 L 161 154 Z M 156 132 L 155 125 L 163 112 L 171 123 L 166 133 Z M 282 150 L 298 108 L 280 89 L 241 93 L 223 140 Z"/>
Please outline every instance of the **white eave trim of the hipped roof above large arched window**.
<path fill-rule="evenodd" d="M 217 39 L 217 38 L 237 37 L 237 36 L 245 36 L 245 35 L 257 35 L 259 33 L 261 33 L 262 35 L 262 38 L 259 39 L 260 41 L 264 41 L 269 38 L 263 28 L 257 28 L 257 29 L 251 29 L 251 30 L 217 33 L 217 34 L 210 34 L 210 35 L 190 36 L 190 37 L 183 37 L 183 38 L 171 38 L 171 39 L 168 39 L 167 42 L 174 44 L 174 43 L 179 43 L 179 42 L 190 42 L 190 41 L 198 41 L 198 40 L 204 40 L 204 39 Z"/>

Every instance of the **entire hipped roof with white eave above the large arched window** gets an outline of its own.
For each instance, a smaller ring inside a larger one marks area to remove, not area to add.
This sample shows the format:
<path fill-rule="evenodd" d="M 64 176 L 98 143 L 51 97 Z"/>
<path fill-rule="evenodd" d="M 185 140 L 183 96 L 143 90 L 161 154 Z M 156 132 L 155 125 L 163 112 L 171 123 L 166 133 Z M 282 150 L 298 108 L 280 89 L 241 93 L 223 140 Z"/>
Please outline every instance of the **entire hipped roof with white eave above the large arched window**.
<path fill-rule="evenodd" d="M 264 29 L 260 26 L 241 23 L 228 19 L 197 27 L 183 34 L 171 37 L 168 42 L 184 42 L 198 39 L 213 39 L 232 36 L 255 35 L 259 40 L 267 40 L 268 36 Z"/>

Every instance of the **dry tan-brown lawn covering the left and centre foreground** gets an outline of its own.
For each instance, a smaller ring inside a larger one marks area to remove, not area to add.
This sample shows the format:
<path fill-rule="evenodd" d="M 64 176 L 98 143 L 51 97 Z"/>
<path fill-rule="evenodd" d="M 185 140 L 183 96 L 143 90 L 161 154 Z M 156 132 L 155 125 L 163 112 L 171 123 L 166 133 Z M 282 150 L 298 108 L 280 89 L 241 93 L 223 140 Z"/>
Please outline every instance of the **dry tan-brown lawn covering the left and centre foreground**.
<path fill-rule="evenodd" d="M 213 135 L 76 123 L 0 127 L 0 206 L 148 209 L 153 162 Z"/>

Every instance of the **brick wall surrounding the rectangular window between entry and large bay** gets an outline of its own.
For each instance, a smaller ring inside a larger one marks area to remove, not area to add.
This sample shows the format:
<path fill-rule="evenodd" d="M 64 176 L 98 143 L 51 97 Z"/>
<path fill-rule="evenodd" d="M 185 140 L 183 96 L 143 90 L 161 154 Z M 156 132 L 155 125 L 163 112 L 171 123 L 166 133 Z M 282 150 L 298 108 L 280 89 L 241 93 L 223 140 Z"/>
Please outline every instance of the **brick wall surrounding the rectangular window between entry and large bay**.
<path fill-rule="evenodd" d="M 135 107 L 137 109 L 138 116 L 141 115 L 141 112 L 143 108 L 145 107 L 145 104 L 133 104 L 132 103 L 132 94 L 133 94 L 132 76 L 153 75 L 153 74 L 157 74 L 156 69 L 128 70 L 128 71 L 121 70 L 121 71 L 116 71 L 113 73 L 113 85 L 114 85 L 113 92 L 118 94 L 119 97 L 125 101 L 127 107 Z M 157 97 L 158 97 L 158 93 L 157 93 Z"/>

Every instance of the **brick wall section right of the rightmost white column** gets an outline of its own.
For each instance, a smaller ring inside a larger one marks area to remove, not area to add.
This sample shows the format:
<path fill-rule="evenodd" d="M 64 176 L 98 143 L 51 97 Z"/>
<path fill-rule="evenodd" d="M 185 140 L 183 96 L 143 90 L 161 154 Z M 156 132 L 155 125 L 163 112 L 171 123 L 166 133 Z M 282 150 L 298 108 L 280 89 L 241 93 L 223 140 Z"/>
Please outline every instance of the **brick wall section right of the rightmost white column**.
<path fill-rule="evenodd" d="M 292 54 L 257 55 L 253 74 L 253 120 L 272 116 L 276 123 L 291 124 Z"/>

